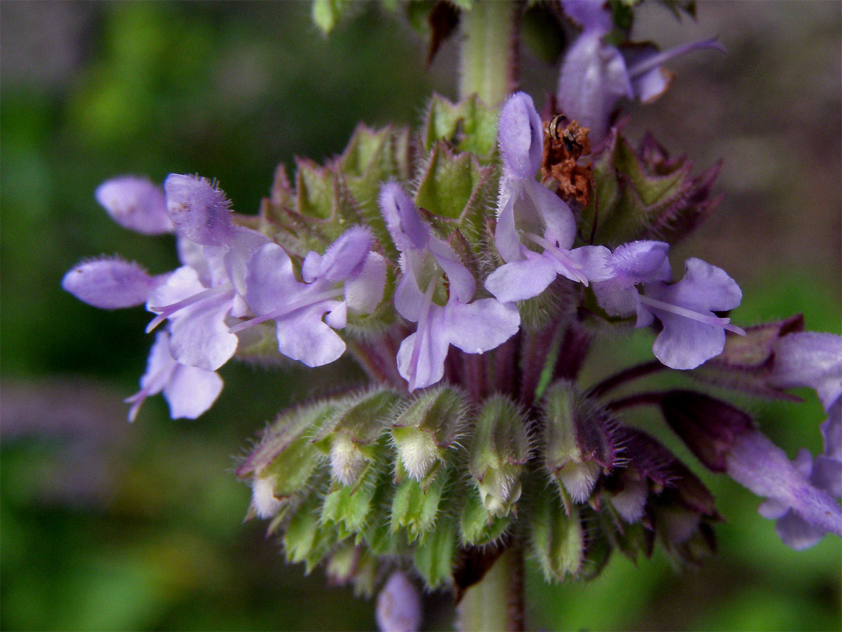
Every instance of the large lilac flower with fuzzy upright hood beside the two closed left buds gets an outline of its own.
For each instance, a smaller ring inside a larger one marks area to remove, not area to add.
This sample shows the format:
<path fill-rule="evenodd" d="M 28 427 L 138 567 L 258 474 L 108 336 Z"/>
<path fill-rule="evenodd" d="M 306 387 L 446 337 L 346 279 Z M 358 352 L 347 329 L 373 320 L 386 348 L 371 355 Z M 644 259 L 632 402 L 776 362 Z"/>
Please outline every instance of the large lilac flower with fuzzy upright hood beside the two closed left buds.
<path fill-rule="evenodd" d="M 268 240 L 235 226 L 225 195 L 208 180 L 170 174 L 164 188 L 187 265 L 150 294 L 147 308 L 158 315 L 147 332 L 168 319 L 173 358 L 216 371 L 237 350 L 237 336 L 228 331 L 226 318 L 248 313 L 242 298 L 246 263 Z"/>

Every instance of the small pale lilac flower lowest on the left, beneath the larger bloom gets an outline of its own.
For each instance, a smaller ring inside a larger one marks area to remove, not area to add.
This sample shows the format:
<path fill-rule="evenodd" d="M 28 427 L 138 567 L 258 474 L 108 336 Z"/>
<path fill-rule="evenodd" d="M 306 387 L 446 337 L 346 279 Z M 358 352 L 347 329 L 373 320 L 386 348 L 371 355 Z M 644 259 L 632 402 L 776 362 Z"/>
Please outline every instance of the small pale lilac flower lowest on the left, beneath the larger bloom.
<path fill-rule="evenodd" d="M 219 397 L 222 379 L 213 371 L 188 367 L 173 360 L 169 335 L 158 332 L 149 352 L 147 372 L 141 378 L 141 390 L 125 401 L 132 404 L 129 420 L 134 421 L 143 401 L 163 391 L 173 419 L 196 419 Z"/>

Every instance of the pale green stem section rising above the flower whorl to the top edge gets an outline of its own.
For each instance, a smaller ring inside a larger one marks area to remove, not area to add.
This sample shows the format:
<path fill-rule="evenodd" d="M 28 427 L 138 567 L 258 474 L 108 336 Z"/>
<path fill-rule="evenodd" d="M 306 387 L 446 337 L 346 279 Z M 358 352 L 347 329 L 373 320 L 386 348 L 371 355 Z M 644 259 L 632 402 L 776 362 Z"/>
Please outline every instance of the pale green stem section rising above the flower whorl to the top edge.
<path fill-rule="evenodd" d="M 462 11 L 459 96 L 478 94 L 497 105 L 517 84 L 517 18 L 519 10 L 506 0 L 479 0 Z"/>

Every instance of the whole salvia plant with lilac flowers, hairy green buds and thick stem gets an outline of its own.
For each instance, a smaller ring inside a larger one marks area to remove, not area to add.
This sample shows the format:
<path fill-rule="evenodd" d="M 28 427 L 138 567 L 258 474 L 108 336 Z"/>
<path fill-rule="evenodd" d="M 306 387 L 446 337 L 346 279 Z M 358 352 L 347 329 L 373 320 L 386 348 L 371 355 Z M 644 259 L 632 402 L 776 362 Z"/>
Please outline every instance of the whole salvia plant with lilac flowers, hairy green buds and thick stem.
<path fill-rule="evenodd" d="M 740 327 L 725 270 L 695 258 L 674 270 L 671 245 L 716 206 L 718 166 L 694 175 L 653 137 L 630 141 L 616 115 L 669 86 L 674 56 L 722 46 L 632 44 L 635 4 L 430 4 L 433 53 L 460 25 L 462 99 L 433 96 L 418 129 L 360 125 L 344 153 L 298 160 L 293 179 L 280 168 L 257 217 L 195 175 L 121 176 L 96 192 L 125 228 L 175 233 L 182 262 L 151 275 L 104 257 L 63 281 L 95 307 L 154 314 L 130 420 L 158 393 L 173 418 L 198 417 L 232 359 L 319 367 L 349 354 L 365 370 L 358 388 L 280 411 L 237 475 L 288 561 L 380 590 L 381 629 L 418 629 L 418 584 L 452 588 L 461 629 L 521 628 L 524 556 L 547 581 L 573 581 L 614 551 L 710 554 L 714 498 L 638 429 L 644 406 L 764 498 L 792 548 L 842 534 L 842 339 L 803 332 L 800 316 Z M 351 7 L 317 0 L 313 14 L 327 31 Z M 524 10 L 578 34 L 543 117 L 514 91 Z M 621 344 L 635 328 L 657 334 L 651 362 L 579 379 L 595 339 Z M 686 386 L 631 388 L 654 372 Z M 706 384 L 781 399 L 815 388 L 824 453 L 791 462 Z M 482 601 L 477 582 L 499 598 Z"/>

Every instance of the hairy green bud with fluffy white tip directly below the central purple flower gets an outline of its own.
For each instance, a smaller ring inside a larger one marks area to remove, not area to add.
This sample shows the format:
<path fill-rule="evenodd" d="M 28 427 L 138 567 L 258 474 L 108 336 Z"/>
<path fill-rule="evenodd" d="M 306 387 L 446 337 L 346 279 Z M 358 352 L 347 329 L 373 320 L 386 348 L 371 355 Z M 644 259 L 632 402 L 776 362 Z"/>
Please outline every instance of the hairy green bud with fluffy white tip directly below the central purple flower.
<path fill-rule="evenodd" d="M 397 479 L 405 472 L 421 480 L 456 447 L 468 410 L 466 397 L 452 387 L 431 388 L 413 399 L 392 422 Z"/>

